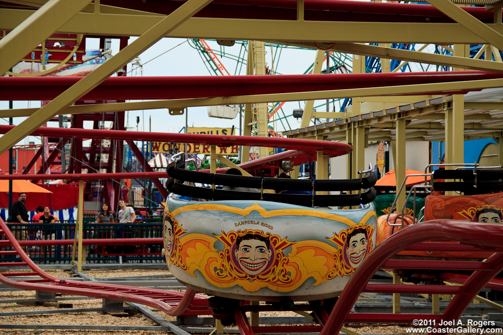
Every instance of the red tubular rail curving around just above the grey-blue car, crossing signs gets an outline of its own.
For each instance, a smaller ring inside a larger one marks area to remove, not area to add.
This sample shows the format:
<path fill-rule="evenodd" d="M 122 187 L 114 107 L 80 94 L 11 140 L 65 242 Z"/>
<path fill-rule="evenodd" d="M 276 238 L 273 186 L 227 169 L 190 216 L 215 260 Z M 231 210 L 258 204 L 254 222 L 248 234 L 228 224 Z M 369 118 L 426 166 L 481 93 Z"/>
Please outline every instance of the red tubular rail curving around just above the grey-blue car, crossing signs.
<path fill-rule="evenodd" d="M 2 125 L 0 126 L 0 134 L 6 134 L 14 127 L 15 126 Z M 323 151 L 324 155 L 333 155 L 332 157 L 346 155 L 353 150 L 353 147 L 351 145 L 338 142 L 288 139 L 278 137 L 258 137 L 258 136 L 150 133 L 150 132 L 129 132 L 120 130 L 49 128 L 49 127 L 40 127 L 30 135 L 47 136 L 47 137 L 65 137 L 74 139 L 105 139 L 105 140 L 124 140 L 124 141 L 134 140 L 134 141 L 195 143 L 200 145 L 201 144 L 216 145 L 219 147 L 229 147 L 235 145 L 273 147 L 287 150 L 304 151 L 308 153 Z"/>

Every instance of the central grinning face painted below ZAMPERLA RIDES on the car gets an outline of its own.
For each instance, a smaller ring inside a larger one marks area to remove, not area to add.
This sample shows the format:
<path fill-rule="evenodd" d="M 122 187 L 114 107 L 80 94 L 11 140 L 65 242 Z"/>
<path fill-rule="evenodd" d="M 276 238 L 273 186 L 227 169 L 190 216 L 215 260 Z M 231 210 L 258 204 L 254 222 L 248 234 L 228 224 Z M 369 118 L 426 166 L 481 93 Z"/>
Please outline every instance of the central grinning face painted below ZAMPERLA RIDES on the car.
<path fill-rule="evenodd" d="M 258 275 L 271 260 L 270 240 L 260 234 L 238 236 L 234 256 L 242 271 L 248 275 Z"/>

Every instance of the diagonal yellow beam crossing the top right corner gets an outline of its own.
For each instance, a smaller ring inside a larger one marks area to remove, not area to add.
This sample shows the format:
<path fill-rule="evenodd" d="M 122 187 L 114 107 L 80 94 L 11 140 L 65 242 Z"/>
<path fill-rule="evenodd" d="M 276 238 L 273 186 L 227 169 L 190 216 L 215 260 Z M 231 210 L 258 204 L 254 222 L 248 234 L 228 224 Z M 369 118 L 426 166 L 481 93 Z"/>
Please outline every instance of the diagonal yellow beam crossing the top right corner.
<path fill-rule="evenodd" d="M 468 12 L 462 10 L 454 3 L 449 0 L 428 0 L 428 2 L 484 41 L 487 41 L 487 44 L 491 44 L 503 50 L 503 35 L 479 21 Z"/>

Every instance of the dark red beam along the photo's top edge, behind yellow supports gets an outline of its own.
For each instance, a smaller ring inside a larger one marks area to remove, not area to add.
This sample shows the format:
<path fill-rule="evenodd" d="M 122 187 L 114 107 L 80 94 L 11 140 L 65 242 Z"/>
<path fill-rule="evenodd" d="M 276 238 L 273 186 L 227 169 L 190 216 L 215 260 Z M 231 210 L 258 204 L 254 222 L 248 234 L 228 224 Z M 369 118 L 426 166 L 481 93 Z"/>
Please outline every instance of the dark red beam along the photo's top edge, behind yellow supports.
<path fill-rule="evenodd" d="M 124 7 L 168 15 L 180 7 L 180 0 L 102 0 L 102 5 Z M 483 7 L 461 7 L 484 23 L 493 23 L 493 11 Z M 292 0 L 215 0 L 194 17 L 297 20 L 297 4 Z M 367 3 L 347 0 L 305 0 L 306 21 L 356 22 L 445 22 L 452 19 L 430 5 Z M 427 19 L 428 18 L 428 19 Z"/>

